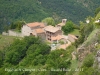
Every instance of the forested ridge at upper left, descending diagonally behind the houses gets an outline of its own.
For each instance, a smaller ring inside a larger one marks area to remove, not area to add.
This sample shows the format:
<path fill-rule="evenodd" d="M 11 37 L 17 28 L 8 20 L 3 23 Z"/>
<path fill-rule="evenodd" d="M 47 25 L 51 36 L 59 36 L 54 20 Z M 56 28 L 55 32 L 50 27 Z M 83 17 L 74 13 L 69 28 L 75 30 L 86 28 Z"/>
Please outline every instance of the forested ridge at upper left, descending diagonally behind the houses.
<path fill-rule="evenodd" d="M 41 21 L 49 15 L 37 0 L 0 0 L 0 11 L 2 29 L 4 25 L 9 26 L 14 21 Z"/>

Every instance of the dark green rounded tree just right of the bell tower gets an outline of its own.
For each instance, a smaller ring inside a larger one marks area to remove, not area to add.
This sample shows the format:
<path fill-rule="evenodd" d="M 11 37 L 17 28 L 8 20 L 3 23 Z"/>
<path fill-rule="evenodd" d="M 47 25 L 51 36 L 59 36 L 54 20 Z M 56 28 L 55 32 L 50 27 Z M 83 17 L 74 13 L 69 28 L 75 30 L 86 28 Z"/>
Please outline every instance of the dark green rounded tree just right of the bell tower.
<path fill-rule="evenodd" d="M 72 21 L 67 21 L 65 26 L 62 27 L 62 30 L 65 34 L 68 34 L 69 32 L 74 30 L 74 23 Z"/>

